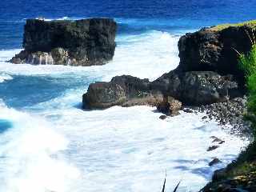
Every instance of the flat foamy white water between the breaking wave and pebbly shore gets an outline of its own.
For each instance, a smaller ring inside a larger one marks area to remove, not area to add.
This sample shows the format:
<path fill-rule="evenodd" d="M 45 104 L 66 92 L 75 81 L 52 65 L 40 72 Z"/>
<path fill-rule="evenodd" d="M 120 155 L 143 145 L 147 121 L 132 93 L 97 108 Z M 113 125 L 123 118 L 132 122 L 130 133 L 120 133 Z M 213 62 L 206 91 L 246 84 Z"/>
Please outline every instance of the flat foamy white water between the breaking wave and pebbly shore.
<path fill-rule="evenodd" d="M 54 127 L 70 140 L 66 153 L 82 172 L 78 191 L 160 191 L 165 170 L 167 191 L 180 179 L 179 191 L 196 191 L 248 143 L 226 134 L 216 122 L 202 122 L 204 114 L 182 113 L 162 121 L 154 110 L 115 106 L 95 111 L 56 109 L 41 115 L 54 119 Z M 226 142 L 206 152 L 214 145 L 213 135 Z M 222 164 L 208 166 L 215 157 Z"/>

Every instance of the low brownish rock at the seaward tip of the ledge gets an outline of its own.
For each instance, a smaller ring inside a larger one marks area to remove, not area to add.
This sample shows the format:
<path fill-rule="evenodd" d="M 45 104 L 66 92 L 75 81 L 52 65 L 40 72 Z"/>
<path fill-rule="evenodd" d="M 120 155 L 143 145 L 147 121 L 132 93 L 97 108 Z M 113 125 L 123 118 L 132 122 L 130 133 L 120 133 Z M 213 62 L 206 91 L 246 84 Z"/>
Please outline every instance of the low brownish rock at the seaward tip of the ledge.
<path fill-rule="evenodd" d="M 83 95 L 83 108 L 104 109 L 110 106 L 157 106 L 163 95 L 158 90 L 150 90 L 148 79 L 122 75 L 112 78 L 110 82 L 90 84 Z"/>

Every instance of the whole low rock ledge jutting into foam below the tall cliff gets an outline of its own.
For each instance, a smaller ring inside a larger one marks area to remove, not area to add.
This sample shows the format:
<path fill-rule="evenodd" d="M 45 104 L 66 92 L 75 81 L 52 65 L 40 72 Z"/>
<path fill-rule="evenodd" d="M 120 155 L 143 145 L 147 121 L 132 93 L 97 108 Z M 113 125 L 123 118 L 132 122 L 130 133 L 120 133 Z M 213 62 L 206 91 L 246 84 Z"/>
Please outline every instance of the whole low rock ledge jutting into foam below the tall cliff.
<path fill-rule="evenodd" d="M 177 100 L 186 105 L 202 105 L 223 102 L 237 94 L 238 84 L 231 75 L 174 70 L 154 82 L 126 75 L 114 77 L 110 82 L 95 82 L 83 95 L 83 106 L 103 109 L 114 105 L 150 105 L 158 106 L 164 114 L 173 114 L 170 106 L 178 105 Z M 170 102 L 166 100 L 168 97 L 175 99 Z"/>

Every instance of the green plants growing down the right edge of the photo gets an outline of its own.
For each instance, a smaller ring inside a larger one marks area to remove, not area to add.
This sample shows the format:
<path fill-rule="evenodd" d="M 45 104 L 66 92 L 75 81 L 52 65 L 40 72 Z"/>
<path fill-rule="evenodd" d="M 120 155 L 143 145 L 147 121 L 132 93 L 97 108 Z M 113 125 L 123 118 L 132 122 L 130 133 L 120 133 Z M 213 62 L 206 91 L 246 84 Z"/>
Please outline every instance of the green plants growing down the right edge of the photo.
<path fill-rule="evenodd" d="M 250 22 L 247 22 L 250 23 Z M 253 23 L 256 24 L 256 21 Z M 240 25 L 240 24 L 238 24 Z M 248 112 L 245 118 L 253 123 L 254 138 L 256 138 L 256 42 L 254 38 L 254 31 L 252 31 L 250 38 L 252 47 L 249 53 L 239 54 L 238 64 L 245 73 L 246 87 L 248 90 Z M 237 186 L 256 185 L 256 141 L 252 142 L 246 150 L 244 150 L 238 157 L 237 161 L 230 163 L 226 170 L 218 175 L 216 179 L 232 180 Z"/>

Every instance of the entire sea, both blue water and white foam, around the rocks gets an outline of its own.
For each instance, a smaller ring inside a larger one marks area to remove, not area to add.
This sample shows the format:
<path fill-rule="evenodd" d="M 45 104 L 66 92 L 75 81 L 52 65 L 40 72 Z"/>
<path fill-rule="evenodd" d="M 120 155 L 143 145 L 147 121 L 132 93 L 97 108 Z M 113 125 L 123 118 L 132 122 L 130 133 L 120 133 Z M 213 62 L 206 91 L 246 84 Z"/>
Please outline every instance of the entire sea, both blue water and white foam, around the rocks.
<path fill-rule="evenodd" d="M 248 142 L 204 114 L 159 120 L 150 106 L 81 110 L 91 82 L 130 74 L 154 80 L 178 66 L 186 32 L 256 18 L 256 0 L 2 0 L 0 2 L 0 192 L 198 191 Z M 118 22 L 104 66 L 6 62 L 22 49 L 26 18 L 110 17 Z M 206 153 L 210 136 L 225 144 Z M 232 146 L 232 147 L 230 147 Z M 221 164 L 210 167 L 213 158 Z"/>

